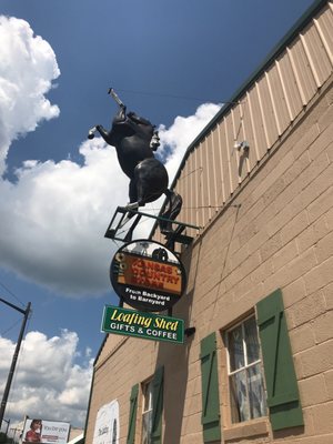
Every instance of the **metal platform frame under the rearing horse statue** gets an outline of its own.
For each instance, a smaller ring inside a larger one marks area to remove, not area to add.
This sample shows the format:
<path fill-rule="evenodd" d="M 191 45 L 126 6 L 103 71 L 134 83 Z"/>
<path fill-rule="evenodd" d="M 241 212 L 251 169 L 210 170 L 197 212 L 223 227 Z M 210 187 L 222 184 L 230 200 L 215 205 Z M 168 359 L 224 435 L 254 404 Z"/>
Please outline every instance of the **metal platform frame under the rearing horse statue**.
<path fill-rule="evenodd" d="M 189 245 L 192 242 L 193 238 L 183 233 L 186 228 L 193 230 L 201 229 L 201 226 L 191 225 L 189 223 L 173 221 L 159 215 L 157 216 L 142 213 L 138 210 L 128 210 L 125 206 L 118 206 L 111 219 L 108 230 L 105 231 L 104 238 L 122 242 L 130 242 L 132 240 L 133 232 L 142 216 L 162 222 L 171 222 L 173 225 L 176 225 L 175 230 L 173 231 L 162 232 L 162 234 L 165 236 L 165 248 L 170 250 L 174 250 L 175 243 Z"/>

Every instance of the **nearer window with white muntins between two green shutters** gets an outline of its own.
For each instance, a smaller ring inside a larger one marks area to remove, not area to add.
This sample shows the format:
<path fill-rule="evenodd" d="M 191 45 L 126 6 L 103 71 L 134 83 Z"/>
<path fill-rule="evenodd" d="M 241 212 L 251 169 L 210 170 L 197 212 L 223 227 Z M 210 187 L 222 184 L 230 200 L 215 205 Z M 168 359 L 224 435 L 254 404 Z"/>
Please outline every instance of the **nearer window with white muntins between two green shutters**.
<path fill-rule="evenodd" d="M 266 415 L 255 317 L 226 332 L 232 423 Z"/>

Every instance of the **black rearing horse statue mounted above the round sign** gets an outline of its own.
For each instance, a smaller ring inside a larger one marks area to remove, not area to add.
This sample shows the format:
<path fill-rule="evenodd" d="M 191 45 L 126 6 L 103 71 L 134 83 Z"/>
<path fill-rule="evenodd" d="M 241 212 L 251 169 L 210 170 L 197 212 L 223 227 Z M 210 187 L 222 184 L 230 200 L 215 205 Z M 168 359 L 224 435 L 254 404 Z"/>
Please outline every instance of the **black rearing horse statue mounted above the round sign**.
<path fill-rule="evenodd" d="M 98 131 L 104 141 L 115 148 L 122 171 L 130 179 L 128 210 L 137 210 L 145 203 L 153 202 L 162 194 L 167 195 L 167 210 L 161 215 L 164 219 L 175 220 L 182 206 L 182 198 L 168 189 L 169 176 L 165 167 L 155 157 L 160 145 L 155 127 L 147 119 L 134 112 L 127 113 L 127 107 L 121 102 L 113 89 L 109 93 L 119 104 L 119 111 L 113 118 L 111 130 L 102 125 L 93 127 L 88 134 L 94 138 Z M 128 218 L 132 214 L 129 213 Z M 160 221 L 161 232 L 168 234 L 172 231 L 172 223 Z"/>

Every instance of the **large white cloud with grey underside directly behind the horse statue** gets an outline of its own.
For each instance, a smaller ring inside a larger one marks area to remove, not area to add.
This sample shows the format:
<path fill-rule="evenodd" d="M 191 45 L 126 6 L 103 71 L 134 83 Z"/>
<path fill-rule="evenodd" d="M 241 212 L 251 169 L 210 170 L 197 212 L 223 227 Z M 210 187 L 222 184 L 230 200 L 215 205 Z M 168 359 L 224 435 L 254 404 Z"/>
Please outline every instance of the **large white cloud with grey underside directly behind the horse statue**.
<path fill-rule="evenodd" d="M 176 118 L 161 130 L 170 179 L 189 143 L 219 107 L 206 104 L 195 115 Z M 91 294 L 110 287 L 108 268 L 115 244 L 103 238 L 118 205 L 128 202 L 128 179 L 115 150 L 95 138 L 80 148 L 83 165 L 70 160 L 27 161 L 16 184 L 0 181 L 0 264 L 24 279 L 63 294 Z M 142 211 L 154 208 L 153 202 Z M 138 230 L 149 233 L 147 224 Z"/>

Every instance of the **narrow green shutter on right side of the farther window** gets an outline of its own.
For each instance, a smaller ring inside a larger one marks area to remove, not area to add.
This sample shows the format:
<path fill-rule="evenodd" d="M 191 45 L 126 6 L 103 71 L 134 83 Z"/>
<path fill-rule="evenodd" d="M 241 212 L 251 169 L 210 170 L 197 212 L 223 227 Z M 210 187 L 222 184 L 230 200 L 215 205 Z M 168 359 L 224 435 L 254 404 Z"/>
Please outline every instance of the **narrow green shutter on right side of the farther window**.
<path fill-rule="evenodd" d="M 162 442 L 162 413 L 163 413 L 163 375 L 164 367 L 159 367 L 152 382 L 152 430 L 151 442 L 160 444 Z"/>

